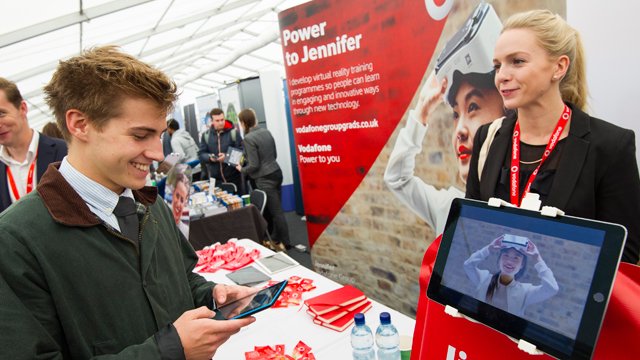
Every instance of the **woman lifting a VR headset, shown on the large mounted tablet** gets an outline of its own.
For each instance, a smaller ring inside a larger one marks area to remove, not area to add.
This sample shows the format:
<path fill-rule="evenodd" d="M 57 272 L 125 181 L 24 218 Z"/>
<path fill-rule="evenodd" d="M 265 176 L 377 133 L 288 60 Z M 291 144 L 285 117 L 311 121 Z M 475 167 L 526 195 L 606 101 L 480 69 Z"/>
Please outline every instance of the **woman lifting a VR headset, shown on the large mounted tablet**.
<path fill-rule="evenodd" d="M 480 269 L 478 265 L 492 254 L 498 254 L 498 272 Z M 532 261 L 540 285 L 518 281 Z M 476 287 L 476 298 L 518 316 L 524 309 L 558 293 L 553 272 L 542 260 L 536 245 L 526 237 L 505 234 L 474 252 L 464 262 L 464 271 Z"/>

